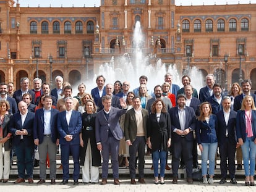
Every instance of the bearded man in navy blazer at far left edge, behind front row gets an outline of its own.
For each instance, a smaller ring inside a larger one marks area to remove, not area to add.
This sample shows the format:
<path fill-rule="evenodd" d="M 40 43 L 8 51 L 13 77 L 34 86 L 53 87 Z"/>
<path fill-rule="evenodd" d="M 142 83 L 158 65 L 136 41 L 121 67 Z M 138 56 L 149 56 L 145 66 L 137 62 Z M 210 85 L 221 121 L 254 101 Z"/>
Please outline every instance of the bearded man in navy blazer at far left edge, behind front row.
<path fill-rule="evenodd" d="M 18 111 L 17 103 L 14 98 L 10 98 L 8 96 L 7 91 L 7 84 L 6 83 L 0 83 L 0 100 L 5 99 L 10 104 L 9 112 L 11 114 L 15 114 Z"/>

